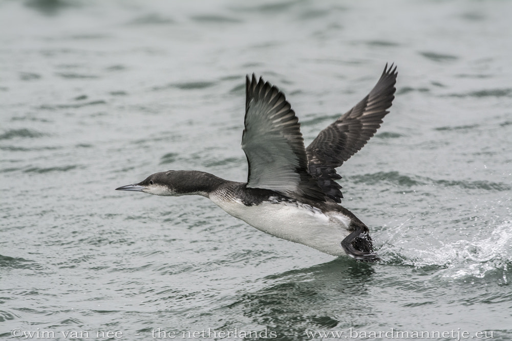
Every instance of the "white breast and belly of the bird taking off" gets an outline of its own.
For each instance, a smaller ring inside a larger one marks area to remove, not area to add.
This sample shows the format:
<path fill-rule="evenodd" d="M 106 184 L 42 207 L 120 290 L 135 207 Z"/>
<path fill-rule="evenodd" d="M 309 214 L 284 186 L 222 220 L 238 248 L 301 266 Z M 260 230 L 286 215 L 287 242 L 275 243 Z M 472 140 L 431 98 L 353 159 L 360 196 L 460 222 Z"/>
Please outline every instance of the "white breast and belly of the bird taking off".
<path fill-rule="evenodd" d="M 340 243 L 350 233 L 350 218 L 341 213 L 324 214 L 304 203 L 264 201 L 245 206 L 242 201 L 210 195 L 211 201 L 260 231 L 313 247 L 333 256 L 344 255 Z"/>

